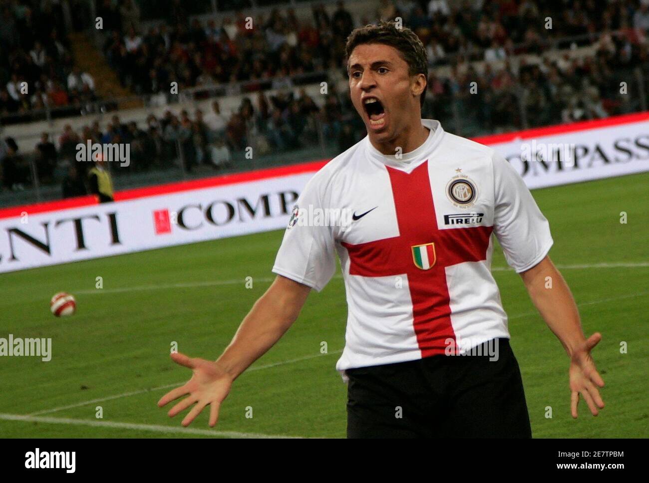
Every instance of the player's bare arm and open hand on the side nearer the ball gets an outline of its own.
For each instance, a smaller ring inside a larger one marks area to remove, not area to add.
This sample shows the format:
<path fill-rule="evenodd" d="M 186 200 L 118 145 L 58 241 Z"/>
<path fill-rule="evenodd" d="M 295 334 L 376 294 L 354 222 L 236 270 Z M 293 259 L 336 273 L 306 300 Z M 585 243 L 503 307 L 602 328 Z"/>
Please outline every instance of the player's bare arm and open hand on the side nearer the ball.
<path fill-rule="evenodd" d="M 213 427 L 219 415 L 219 406 L 230 392 L 234 379 L 288 331 L 310 290 L 306 285 L 277 276 L 273 285 L 252 306 L 232 342 L 215 362 L 190 358 L 181 353 L 171 354 L 171 359 L 190 368 L 193 375 L 188 383 L 162 396 L 158 406 L 188 395 L 169 410 L 169 417 L 196 403 L 182 420 L 182 425 L 188 426 L 205 406 L 211 405 L 210 426 Z"/>

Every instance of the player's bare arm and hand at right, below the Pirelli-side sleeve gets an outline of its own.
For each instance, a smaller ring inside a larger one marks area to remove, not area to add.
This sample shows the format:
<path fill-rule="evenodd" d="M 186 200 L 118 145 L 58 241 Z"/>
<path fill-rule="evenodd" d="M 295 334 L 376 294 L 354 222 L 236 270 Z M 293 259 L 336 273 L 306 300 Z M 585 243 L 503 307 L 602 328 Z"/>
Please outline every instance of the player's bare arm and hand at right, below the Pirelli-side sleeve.
<path fill-rule="evenodd" d="M 585 338 L 577 305 L 567 283 L 550 257 L 546 256 L 538 265 L 522 272 L 520 276 L 532 302 L 570 357 L 572 417 L 577 417 L 580 394 L 593 416 L 597 416 L 597 408 L 604 407 L 597 387 L 604 387 L 604 380 L 597 372 L 591 349 L 602 340 L 602 335 L 594 333 L 588 339 Z"/>

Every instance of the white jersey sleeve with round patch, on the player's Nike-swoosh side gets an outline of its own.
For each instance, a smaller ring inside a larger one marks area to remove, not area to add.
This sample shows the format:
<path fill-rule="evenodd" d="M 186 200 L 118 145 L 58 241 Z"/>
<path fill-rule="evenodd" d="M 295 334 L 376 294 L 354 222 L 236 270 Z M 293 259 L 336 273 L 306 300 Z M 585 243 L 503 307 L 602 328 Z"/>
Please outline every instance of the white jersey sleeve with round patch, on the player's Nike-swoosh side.
<path fill-rule="evenodd" d="M 273 272 L 303 283 L 317 292 L 324 289 L 336 272 L 336 248 L 330 226 L 313 226 L 314 209 L 324 208 L 317 181 L 312 178 L 293 207 Z M 313 219 L 310 219 L 313 218 Z"/>

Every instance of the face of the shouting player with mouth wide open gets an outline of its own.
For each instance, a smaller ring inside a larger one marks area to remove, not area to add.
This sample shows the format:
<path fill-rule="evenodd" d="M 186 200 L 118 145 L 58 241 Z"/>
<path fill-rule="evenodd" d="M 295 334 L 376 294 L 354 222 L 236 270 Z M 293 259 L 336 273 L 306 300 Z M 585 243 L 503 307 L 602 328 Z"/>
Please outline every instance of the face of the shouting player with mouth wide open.
<path fill-rule="evenodd" d="M 395 139 L 413 114 L 419 119 L 420 86 L 395 47 L 358 45 L 348 65 L 352 103 L 372 139 Z"/>

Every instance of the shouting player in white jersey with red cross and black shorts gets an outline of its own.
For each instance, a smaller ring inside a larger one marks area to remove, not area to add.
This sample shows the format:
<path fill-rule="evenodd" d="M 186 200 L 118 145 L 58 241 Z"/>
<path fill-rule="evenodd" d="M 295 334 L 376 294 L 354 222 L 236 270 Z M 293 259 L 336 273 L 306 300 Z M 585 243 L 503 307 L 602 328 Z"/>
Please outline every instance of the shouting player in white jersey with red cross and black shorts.
<path fill-rule="evenodd" d="M 169 416 L 194 405 L 186 426 L 210 405 L 214 426 L 232 382 L 284 335 L 309 292 L 328 283 L 337 253 L 349 307 L 336 365 L 349 381 L 349 438 L 530 438 L 491 276 L 495 235 L 569 356 L 572 416 L 580 395 L 596 416 L 604 381 L 591 349 L 601 335 L 583 335 L 570 290 L 548 257 L 548 221 L 520 176 L 492 148 L 421 119 L 426 51 L 411 30 L 384 22 L 356 29 L 347 58 L 350 96 L 367 136 L 307 183 L 273 266 L 277 277 L 223 355 L 212 362 L 172 354 L 193 376 L 158 405 L 188 395 Z M 352 216 L 309 222 L 313 209 Z"/>

